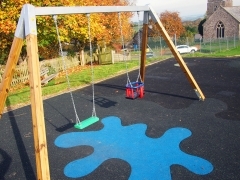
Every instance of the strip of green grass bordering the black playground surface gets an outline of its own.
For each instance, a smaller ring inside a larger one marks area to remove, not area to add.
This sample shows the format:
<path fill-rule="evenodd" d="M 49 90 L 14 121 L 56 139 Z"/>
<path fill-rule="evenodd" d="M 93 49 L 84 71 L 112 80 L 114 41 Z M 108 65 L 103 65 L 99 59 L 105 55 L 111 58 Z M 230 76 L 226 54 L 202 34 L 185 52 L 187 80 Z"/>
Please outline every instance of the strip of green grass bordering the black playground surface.
<path fill-rule="evenodd" d="M 234 57 L 240 56 L 240 47 L 230 49 L 230 50 L 223 50 L 221 52 L 215 53 L 201 53 L 196 52 L 194 54 L 185 54 L 183 55 L 184 58 L 187 57 Z M 147 64 L 161 61 L 167 59 L 171 56 L 162 56 L 158 58 L 149 58 L 147 59 Z M 94 65 L 94 82 L 104 80 L 119 74 L 126 73 L 127 71 L 139 68 L 139 61 L 132 60 L 128 61 L 127 68 L 126 63 L 115 63 L 109 65 Z M 91 67 L 76 67 L 73 69 L 68 70 L 68 77 L 69 83 L 72 90 L 81 88 L 83 86 L 89 85 L 91 83 Z M 42 94 L 44 98 L 49 96 L 54 96 L 59 93 L 66 92 L 68 89 L 68 82 L 65 76 L 65 72 L 59 73 L 59 76 L 54 80 L 50 81 L 47 85 L 42 87 Z M 18 85 L 16 87 L 12 87 L 10 89 L 10 93 L 8 95 L 6 106 L 13 107 L 14 106 L 22 106 L 25 104 L 29 104 L 30 102 L 30 89 L 28 85 Z"/>

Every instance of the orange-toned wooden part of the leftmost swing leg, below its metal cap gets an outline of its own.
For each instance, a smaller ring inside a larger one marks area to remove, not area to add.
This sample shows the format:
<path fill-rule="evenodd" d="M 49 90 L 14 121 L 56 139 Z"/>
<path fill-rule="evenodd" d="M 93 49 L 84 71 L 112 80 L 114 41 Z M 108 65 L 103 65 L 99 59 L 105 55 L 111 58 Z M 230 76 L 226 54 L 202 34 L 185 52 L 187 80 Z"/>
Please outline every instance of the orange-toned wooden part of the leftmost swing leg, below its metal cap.
<path fill-rule="evenodd" d="M 22 49 L 23 39 L 14 37 L 12 47 L 8 56 L 7 64 L 4 70 L 2 82 L 0 84 L 0 118 L 7 99 L 9 87 L 12 82 L 14 70 L 16 68 L 18 58 Z"/>

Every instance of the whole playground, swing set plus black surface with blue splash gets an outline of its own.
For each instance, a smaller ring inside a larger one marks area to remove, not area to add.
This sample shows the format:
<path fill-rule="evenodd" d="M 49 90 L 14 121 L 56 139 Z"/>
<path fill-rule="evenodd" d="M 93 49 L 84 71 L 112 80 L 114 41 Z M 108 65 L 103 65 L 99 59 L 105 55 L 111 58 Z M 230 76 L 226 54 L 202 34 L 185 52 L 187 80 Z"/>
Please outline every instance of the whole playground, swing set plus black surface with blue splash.
<path fill-rule="evenodd" d="M 66 71 L 69 92 L 43 101 L 36 16 L 54 15 L 64 62 L 63 10 L 87 14 L 91 86 L 72 91 Z M 144 11 L 139 69 L 95 83 L 90 14 L 118 12 L 124 45 L 120 12 L 133 11 Z M 149 18 L 174 58 L 146 66 Z M 24 39 L 31 106 L 2 113 Z M 150 6 L 26 4 L 0 84 L 0 179 L 239 179 L 239 68 L 237 57 L 183 60 Z"/>

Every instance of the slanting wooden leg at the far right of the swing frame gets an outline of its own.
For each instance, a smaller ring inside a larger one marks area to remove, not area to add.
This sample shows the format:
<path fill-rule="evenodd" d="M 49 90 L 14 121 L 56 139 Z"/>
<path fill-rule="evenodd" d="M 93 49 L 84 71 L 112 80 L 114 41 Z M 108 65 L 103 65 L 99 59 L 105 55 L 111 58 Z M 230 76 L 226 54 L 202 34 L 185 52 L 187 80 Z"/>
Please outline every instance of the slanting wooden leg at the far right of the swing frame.
<path fill-rule="evenodd" d="M 193 87 L 195 93 L 197 94 L 197 96 L 199 97 L 200 100 L 204 100 L 205 96 L 202 93 L 201 89 L 199 88 L 197 82 L 195 81 L 194 77 L 192 76 L 190 70 L 188 69 L 186 63 L 184 62 L 182 56 L 178 53 L 175 45 L 173 44 L 171 38 L 169 37 L 167 31 L 165 30 L 164 26 L 162 25 L 162 23 L 160 22 L 157 14 L 153 11 L 153 9 L 151 7 L 150 8 L 150 12 L 151 12 L 151 17 L 155 22 L 155 25 L 157 26 L 157 28 L 159 29 L 161 35 L 163 36 L 163 38 L 165 39 L 166 43 L 168 44 L 168 47 L 170 48 L 172 54 L 174 55 L 175 59 L 177 60 L 178 64 L 180 65 L 183 73 L 186 75 L 188 81 L 190 82 L 191 86 Z"/>

